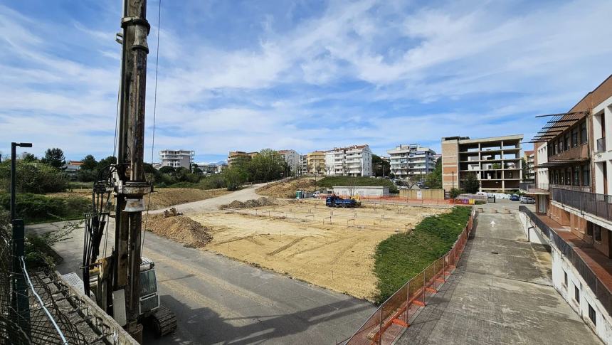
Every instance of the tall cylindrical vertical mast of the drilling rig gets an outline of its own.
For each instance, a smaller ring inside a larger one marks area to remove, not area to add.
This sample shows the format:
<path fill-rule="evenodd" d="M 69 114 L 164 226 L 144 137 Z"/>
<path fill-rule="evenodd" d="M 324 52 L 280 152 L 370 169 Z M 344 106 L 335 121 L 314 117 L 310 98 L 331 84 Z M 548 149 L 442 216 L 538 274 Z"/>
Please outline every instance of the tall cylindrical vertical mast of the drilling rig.
<path fill-rule="evenodd" d="M 120 120 L 115 176 L 115 266 L 113 317 L 142 343 L 139 314 L 141 220 L 143 197 L 150 186 L 144 177 L 144 97 L 147 82 L 147 0 L 124 0 Z M 121 301 L 125 299 L 125 301 Z M 117 301 L 117 302 L 115 302 Z M 120 307 L 125 302 L 125 309 Z"/>

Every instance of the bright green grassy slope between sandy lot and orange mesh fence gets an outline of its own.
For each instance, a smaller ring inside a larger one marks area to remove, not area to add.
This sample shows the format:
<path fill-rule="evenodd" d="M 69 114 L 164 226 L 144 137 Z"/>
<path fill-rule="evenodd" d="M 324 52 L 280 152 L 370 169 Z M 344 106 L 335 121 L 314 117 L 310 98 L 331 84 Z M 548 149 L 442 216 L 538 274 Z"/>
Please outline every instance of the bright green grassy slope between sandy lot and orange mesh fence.
<path fill-rule="evenodd" d="M 470 218 L 471 208 L 457 206 L 450 213 L 430 216 L 411 233 L 397 233 L 379 243 L 374 259 L 382 303 L 431 262 L 445 255 Z"/>

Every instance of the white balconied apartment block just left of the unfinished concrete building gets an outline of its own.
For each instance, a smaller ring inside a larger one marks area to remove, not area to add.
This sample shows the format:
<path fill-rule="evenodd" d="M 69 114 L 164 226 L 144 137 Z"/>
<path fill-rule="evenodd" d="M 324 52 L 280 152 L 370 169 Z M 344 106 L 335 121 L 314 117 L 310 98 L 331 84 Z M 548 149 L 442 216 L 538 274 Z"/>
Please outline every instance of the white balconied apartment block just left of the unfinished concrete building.
<path fill-rule="evenodd" d="M 436 152 L 418 144 L 409 144 L 387 150 L 391 173 L 396 179 L 423 179 L 426 174 L 436 169 Z"/>

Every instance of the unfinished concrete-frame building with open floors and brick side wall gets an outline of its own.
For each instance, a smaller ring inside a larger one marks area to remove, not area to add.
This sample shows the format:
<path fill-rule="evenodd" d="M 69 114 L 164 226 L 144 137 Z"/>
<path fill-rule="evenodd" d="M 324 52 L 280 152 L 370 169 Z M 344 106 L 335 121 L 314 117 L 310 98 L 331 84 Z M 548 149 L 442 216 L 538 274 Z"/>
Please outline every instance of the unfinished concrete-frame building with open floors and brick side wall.
<path fill-rule="evenodd" d="M 442 138 L 442 186 L 449 191 L 463 188 L 475 174 L 480 191 L 516 191 L 522 180 L 522 134 L 470 139 Z"/>

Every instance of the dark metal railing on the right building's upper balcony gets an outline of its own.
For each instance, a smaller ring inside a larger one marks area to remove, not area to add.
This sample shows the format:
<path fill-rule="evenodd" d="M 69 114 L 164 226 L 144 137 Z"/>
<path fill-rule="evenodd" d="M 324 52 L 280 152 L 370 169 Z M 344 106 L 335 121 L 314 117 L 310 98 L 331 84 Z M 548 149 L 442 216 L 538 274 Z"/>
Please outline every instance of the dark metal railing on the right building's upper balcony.
<path fill-rule="evenodd" d="M 590 213 L 608 221 L 612 220 L 612 196 L 607 194 L 552 188 L 552 200 Z"/>

